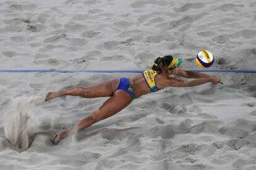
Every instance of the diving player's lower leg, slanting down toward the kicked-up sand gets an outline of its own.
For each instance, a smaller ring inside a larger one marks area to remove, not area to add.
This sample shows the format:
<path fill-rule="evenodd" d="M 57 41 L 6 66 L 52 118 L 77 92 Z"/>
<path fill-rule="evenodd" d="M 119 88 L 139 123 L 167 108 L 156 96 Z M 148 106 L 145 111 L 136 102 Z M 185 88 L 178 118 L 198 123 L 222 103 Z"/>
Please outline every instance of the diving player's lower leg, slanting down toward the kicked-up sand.
<path fill-rule="evenodd" d="M 115 115 L 122 109 L 126 108 L 130 102 L 132 102 L 132 97 L 130 97 L 128 92 L 117 90 L 114 92 L 112 97 L 106 100 L 106 102 L 98 108 L 98 110 L 93 111 L 92 115 L 82 119 L 79 123 L 75 124 L 74 127 L 58 132 L 53 142 L 57 144 L 69 134 L 85 129 L 102 119 Z"/>

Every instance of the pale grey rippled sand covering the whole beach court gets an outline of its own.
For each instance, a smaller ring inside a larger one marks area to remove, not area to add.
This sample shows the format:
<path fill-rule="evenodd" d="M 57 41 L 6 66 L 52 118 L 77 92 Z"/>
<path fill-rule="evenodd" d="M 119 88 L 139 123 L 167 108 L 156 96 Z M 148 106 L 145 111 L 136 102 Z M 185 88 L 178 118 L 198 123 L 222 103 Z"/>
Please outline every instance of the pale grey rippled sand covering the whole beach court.
<path fill-rule="evenodd" d="M 144 70 L 173 54 L 193 70 L 206 49 L 211 69 L 255 70 L 254 1 L 2 0 L 0 16 L 1 69 Z M 256 169 L 255 74 L 168 87 L 49 142 L 107 98 L 47 92 L 135 75 L 0 73 L 0 169 Z"/>

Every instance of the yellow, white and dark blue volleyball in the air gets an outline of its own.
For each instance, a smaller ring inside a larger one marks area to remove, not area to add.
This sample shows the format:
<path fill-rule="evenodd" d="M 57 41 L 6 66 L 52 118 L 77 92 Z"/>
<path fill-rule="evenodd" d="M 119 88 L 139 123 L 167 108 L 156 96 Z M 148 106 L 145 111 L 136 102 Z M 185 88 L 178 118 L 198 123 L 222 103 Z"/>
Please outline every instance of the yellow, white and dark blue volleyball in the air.
<path fill-rule="evenodd" d="M 198 52 L 197 58 L 195 59 L 197 65 L 201 68 L 208 68 L 213 65 L 214 57 L 210 51 L 202 50 Z"/>

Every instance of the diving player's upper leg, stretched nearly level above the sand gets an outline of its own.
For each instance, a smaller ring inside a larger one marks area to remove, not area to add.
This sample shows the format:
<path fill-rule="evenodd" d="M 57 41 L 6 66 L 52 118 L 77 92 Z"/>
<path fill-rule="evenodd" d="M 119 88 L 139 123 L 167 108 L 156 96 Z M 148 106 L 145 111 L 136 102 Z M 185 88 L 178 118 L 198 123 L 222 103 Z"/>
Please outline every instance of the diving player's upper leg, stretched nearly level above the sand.
<path fill-rule="evenodd" d="M 114 91 L 116 91 L 118 84 L 119 79 L 113 79 L 92 87 L 73 87 L 64 91 L 49 92 L 46 95 L 45 101 L 49 101 L 63 95 L 73 95 L 84 98 L 109 97 L 113 95 Z"/>

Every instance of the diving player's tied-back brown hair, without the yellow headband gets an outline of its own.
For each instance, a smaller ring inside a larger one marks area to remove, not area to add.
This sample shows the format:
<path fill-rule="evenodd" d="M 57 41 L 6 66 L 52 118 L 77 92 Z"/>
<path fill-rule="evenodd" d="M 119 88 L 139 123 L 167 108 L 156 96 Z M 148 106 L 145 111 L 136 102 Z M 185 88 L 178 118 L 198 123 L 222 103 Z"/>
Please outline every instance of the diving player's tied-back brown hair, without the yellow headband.
<path fill-rule="evenodd" d="M 168 70 L 168 65 L 173 61 L 173 56 L 172 55 L 166 55 L 164 57 L 158 57 L 155 59 L 155 63 L 153 67 L 151 68 L 152 70 L 158 72 L 159 74 L 167 74 Z"/>

